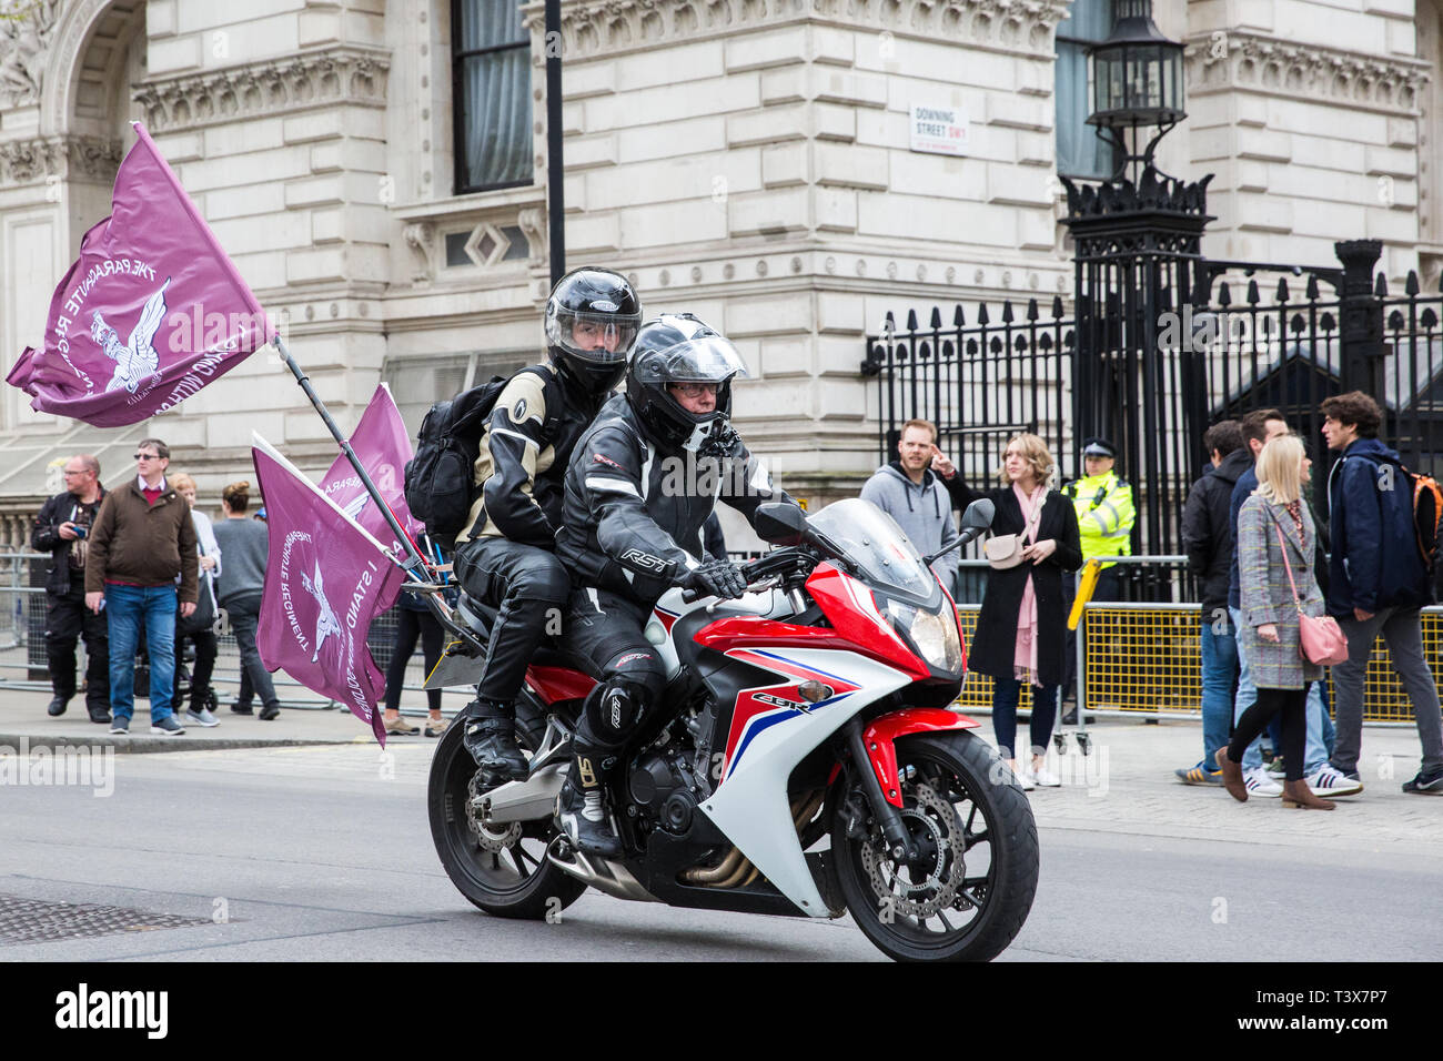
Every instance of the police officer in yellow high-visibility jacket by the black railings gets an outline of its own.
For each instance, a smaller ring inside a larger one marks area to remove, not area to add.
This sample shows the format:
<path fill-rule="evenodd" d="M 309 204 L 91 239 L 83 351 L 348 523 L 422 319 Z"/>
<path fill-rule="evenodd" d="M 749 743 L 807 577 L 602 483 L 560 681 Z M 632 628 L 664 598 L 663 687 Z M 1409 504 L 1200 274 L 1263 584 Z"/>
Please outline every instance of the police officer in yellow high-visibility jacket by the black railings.
<path fill-rule="evenodd" d="M 1078 531 L 1082 537 L 1082 564 L 1110 556 L 1133 554 L 1133 524 L 1137 510 L 1133 507 L 1133 488 L 1113 471 L 1117 463 L 1117 446 L 1107 439 L 1082 440 L 1081 479 L 1074 479 L 1062 492 L 1072 501 L 1078 515 Z M 1063 580 L 1066 583 L 1069 580 Z M 1072 608 L 1074 590 L 1066 586 L 1066 606 Z M 1121 569 L 1115 563 L 1104 563 L 1092 589 L 1092 601 L 1120 601 L 1123 596 Z M 1072 681 L 1076 677 L 1076 631 L 1068 631 L 1066 678 L 1062 683 L 1063 697 L 1072 697 Z M 1063 722 L 1075 722 L 1076 709 Z"/>

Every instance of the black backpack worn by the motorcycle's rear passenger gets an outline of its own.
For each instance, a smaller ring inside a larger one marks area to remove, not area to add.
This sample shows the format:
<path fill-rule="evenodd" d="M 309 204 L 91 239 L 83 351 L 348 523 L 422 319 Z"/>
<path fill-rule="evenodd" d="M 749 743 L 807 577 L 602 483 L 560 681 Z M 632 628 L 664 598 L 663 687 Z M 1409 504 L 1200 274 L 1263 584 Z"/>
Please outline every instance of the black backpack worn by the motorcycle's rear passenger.
<path fill-rule="evenodd" d="M 543 365 L 521 371 L 535 372 L 545 383 L 545 430 L 550 432 L 560 420 L 561 409 L 556 377 Z M 494 375 L 489 383 L 437 401 L 421 420 L 416 456 L 405 463 L 405 504 L 411 515 L 426 524 L 431 540 L 446 549 L 452 549 L 456 536 L 466 530 L 466 517 L 481 495 L 475 482 L 481 436 L 496 398 L 512 378 Z"/>

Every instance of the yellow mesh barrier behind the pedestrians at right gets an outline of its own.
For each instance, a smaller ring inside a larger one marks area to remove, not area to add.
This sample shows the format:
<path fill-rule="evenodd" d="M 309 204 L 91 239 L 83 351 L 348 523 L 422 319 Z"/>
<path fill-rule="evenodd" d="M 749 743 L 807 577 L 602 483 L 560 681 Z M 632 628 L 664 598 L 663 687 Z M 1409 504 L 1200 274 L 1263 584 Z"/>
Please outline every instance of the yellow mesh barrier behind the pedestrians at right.
<path fill-rule="evenodd" d="M 970 645 L 978 608 L 958 609 L 962 635 Z M 1186 605 L 1108 608 L 1092 605 L 1084 612 L 1085 655 L 1079 680 L 1087 681 L 1087 709 L 1128 715 L 1199 715 L 1202 710 L 1201 609 Z M 1443 689 L 1443 608 L 1423 611 L 1423 655 L 1433 680 Z M 1364 678 L 1365 722 L 1413 722 L 1413 704 L 1388 661 L 1380 638 L 1372 648 Z M 991 707 L 993 681 L 970 674 L 960 706 Z M 1328 683 L 1332 704 L 1332 678 Z M 1023 689 L 1023 709 L 1032 706 Z"/>

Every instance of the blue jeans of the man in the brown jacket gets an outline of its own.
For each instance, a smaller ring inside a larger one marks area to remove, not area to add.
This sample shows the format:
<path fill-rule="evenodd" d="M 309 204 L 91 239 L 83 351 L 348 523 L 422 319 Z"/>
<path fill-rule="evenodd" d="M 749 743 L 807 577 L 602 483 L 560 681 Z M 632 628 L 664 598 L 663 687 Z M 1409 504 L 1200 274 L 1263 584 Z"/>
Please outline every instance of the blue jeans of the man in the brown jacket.
<path fill-rule="evenodd" d="M 128 719 L 136 713 L 136 644 L 146 625 L 150 655 L 150 722 L 172 715 L 176 690 L 176 588 L 105 585 L 105 621 L 110 624 L 110 713 Z"/>

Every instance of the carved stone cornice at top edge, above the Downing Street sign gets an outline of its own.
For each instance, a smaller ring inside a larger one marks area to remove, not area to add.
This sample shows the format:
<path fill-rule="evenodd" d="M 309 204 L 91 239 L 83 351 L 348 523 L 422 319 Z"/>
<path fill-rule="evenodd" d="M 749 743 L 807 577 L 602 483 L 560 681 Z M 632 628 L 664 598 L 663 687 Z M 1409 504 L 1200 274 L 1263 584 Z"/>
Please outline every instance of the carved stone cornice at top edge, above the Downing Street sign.
<path fill-rule="evenodd" d="M 815 19 L 906 36 L 968 40 L 1052 52 L 1052 32 L 1071 0 L 571 0 L 561 6 L 569 58 L 713 36 L 747 26 Z M 524 25 L 543 40 L 544 4 L 528 3 Z"/>

